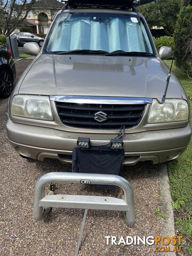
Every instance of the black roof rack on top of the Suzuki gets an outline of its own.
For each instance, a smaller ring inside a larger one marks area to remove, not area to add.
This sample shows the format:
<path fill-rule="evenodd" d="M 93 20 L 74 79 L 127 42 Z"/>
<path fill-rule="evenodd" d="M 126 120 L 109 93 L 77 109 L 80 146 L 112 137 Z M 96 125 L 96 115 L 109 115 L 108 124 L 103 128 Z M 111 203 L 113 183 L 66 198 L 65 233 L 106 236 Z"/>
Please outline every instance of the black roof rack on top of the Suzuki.
<path fill-rule="evenodd" d="M 99 7 L 112 9 L 130 9 L 133 7 L 153 2 L 154 0 L 63 0 L 66 5 L 63 9 L 70 8 L 85 8 L 85 7 Z"/>

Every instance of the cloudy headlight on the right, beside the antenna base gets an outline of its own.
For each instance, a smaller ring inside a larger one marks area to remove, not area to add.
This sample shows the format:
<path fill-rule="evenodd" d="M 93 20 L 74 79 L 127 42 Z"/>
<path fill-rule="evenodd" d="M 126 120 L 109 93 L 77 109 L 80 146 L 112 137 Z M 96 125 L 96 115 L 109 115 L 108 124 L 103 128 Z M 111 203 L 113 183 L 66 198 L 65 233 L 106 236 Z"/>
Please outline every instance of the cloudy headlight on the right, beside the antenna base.
<path fill-rule="evenodd" d="M 148 124 L 170 123 L 187 121 L 189 118 L 189 107 L 185 100 L 166 99 L 160 104 L 156 99 L 153 100 L 149 115 Z"/>

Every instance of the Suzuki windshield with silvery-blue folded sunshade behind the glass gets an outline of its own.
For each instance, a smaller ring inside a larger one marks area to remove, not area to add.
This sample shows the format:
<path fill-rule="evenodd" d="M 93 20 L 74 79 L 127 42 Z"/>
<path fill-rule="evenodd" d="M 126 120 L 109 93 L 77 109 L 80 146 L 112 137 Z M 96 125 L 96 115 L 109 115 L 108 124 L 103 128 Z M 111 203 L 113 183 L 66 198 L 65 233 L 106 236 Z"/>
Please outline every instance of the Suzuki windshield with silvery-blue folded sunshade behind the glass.
<path fill-rule="evenodd" d="M 129 14 L 62 13 L 55 21 L 46 53 L 87 50 L 153 54 L 142 20 Z"/>

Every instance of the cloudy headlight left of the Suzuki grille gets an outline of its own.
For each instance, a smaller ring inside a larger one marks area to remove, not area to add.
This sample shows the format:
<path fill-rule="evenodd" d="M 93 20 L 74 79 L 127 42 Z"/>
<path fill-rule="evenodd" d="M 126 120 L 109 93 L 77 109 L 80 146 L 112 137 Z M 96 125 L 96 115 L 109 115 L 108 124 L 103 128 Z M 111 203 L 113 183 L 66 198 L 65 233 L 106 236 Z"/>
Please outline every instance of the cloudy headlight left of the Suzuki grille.
<path fill-rule="evenodd" d="M 50 99 L 48 96 L 15 95 L 11 103 L 11 115 L 53 121 Z"/>

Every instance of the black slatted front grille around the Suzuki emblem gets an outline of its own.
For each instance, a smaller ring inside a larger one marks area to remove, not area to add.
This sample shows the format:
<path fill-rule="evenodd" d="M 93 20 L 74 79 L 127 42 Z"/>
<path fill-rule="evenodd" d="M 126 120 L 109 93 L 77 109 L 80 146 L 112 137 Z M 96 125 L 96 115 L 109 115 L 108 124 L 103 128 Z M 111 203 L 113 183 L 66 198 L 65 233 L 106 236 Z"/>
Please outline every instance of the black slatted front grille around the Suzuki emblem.
<path fill-rule="evenodd" d="M 85 129 L 116 130 L 125 125 L 126 128 L 137 126 L 142 119 L 145 104 L 141 105 L 100 105 L 56 102 L 59 117 L 63 124 Z M 102 111 L 107 120 L 99 123 L 95 113 Z"/>

